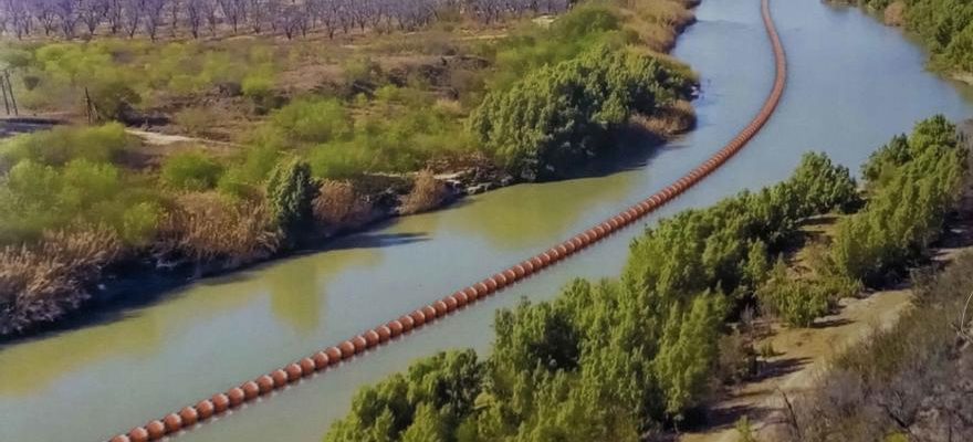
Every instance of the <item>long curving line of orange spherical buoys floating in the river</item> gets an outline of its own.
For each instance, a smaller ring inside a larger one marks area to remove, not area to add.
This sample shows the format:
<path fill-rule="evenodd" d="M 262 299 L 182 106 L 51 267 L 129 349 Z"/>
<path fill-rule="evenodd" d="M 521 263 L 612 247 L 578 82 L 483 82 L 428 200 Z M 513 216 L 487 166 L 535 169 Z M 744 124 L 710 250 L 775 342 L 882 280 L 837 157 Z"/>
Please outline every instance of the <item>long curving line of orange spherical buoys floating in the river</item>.
<path fill-rule="evenodd" d="M 217 393 L 210 399 L 203 399 L 196 406 L 186 407 L 178 413 L 167 414 L 163 420 L 153 420 L 143 427 L 136 427 L 126 434 L 119 434 L 111 439 L 111 442 L 147 442 L 159 440 L 167 434 L 197 425 L 229 409 L 253 401 L 261 396 L 270 394 L 274 390 L 285 388 L 303 377 L 322 371 L 342 360 L 349 359 L 370 348 L 384 345 L 404 334 L 415 330 L 436 319 L 449 315 L 458 309 L 490 296 L 511 284 L 530 277 L 557 262 L 585 250 L 587 246 L 601 239 L 630 225 L 648 213 L 665 206 L 667 202 L 679 197 L 682 192 L 697 185 L 700 180 L 719 169 L 734 154 L 740 151 L 766 124 L 771 115 L 781 102 L 784 86 L 787 80 L 787 63 L 784 46 L 781 43 L 777 30 L 771 18 L 768 0 L 762 0 L 762 14 L 767 36 L 774 51 L 776 62 L 776 77 L 767 101 L 753 120 L 734 137 L 725 147 L 720 149 L 705 162 L 691 170 L 671 186 L 626 209 L 619 214 L 611 217 L 605 222 L 595 225 L 569 240 L 551 248 L 533 257 L 511 266 L 479 283 L 453 293 L 430 305 L 420 307 L 412 313 L 402 315 L 398 319 L 388 322 L 362 335 L 345 340 L 337 346 L 328 347 L 314 355 L 286 365 L 268 375 L 262 375 L 254 380 L 243 382 L 229 389 L 224 393 Z"/>

